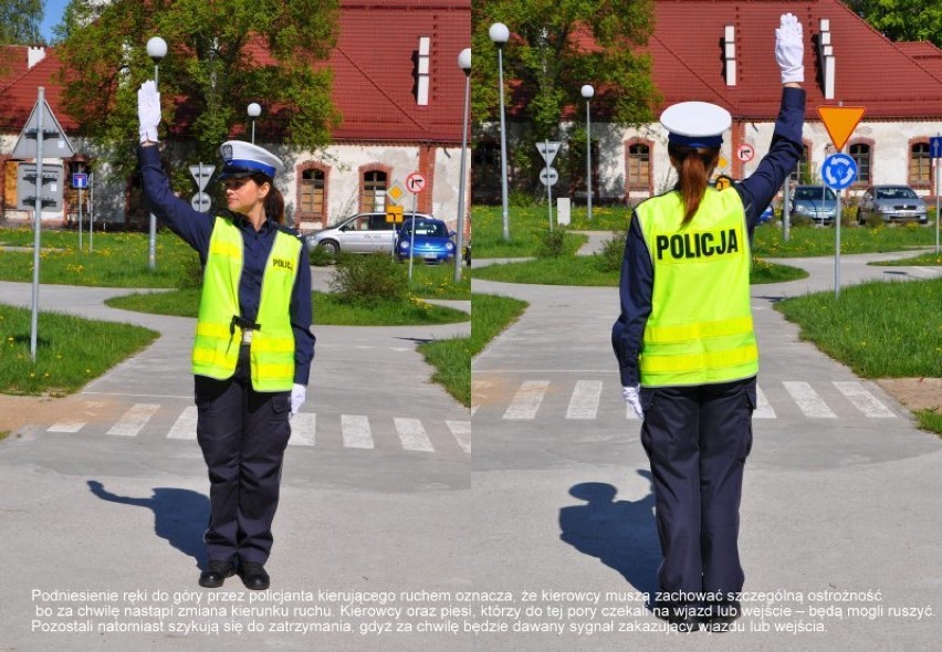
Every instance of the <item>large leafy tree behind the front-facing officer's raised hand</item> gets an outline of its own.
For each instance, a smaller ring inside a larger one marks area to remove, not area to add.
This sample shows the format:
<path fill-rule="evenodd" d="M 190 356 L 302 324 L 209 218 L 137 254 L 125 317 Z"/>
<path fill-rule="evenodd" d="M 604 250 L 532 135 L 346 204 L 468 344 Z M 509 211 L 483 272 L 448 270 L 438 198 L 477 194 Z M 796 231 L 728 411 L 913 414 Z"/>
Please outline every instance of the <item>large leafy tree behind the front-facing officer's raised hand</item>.
<path fill-rule="evenodd" d="M 146 43 L 167 41 L 159 63 L 164 124 L 192 140 L 192 162 L 216 159 L 241 136 L 245 107 L 269 140 L 314 149 L 337 120 L 331 71 L 321 65 L 336 40 L 337 0 L 71 0 L 56 49 L 65 108 L 127 175 L 135 166 L 137 88 L 154 77 Z"/>

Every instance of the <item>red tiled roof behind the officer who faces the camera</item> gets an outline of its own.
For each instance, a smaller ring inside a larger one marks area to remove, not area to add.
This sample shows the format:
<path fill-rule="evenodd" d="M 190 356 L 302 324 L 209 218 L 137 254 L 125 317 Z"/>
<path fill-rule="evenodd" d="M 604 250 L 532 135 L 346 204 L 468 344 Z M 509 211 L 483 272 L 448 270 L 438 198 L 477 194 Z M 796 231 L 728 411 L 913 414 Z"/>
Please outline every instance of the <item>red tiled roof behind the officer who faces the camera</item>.
<path fill-rule="evenodd" d="M 419 36 L 431 38 L 429 103 L 414 95 Z M 471 0 L 343 0 L 333 69 L 334 104 L 343 116 L 335 140 L 460 143 L 464 74 L 458 54 L 471 44 Z M 259 52 L 260 63 L 268 56 Z M 0 132 L 22 128 L 44 86 L 63 128 L 77 123 L 61 108 L 54 49 L 27 71 L 27 48 L 0 49 Z M 186 119 L 186 108 L 178 108 Z"/>

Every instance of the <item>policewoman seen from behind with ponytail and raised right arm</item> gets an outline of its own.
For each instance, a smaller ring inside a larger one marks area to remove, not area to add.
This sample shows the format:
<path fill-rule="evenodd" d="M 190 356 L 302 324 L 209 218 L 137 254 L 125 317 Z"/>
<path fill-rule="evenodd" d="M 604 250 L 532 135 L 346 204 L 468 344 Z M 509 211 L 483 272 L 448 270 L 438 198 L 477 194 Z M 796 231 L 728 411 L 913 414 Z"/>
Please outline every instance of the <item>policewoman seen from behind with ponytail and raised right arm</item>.
<path fill-rule="evenodd" d="M 688 631 L 704 614 L 712 629 L 740 614 L 739 507 L 758 371 L 750 242 L 803 151 L 802 25 L 785 14 L 775 33 L 782 104 L 750 178 L 708 187 L 732 122 L 725 109 L 687 102 L 661 115 L 679 181 L 635 209 L 611 334 L 653 477 L 663 554 L 656 613 Z"/>

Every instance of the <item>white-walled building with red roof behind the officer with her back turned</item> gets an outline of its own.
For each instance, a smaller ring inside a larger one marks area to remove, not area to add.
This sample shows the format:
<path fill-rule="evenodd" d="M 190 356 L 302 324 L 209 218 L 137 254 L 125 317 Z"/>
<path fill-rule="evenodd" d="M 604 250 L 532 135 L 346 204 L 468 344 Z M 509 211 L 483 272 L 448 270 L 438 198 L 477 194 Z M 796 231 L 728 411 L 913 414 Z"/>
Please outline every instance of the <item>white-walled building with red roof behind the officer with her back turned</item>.
<path fill-rule="evenodd" d="M 860 170 L 850 191 L 904 183 L 931 192 L 929 139 L 942 133 L 942 51 L 928 42 L 891 42 L 838 0 L 656 0 L 655 29 L 645 48 L 662 95 L 656 115 L 685 101 L 723 106 L 733 126 L 718 173 L 751 173 L 767 151 L 778 112 L 775 28 L 787 12 L 798 18 L 805 34 L 802 177 L 819 179 L 821 162 L 835 151 L 817 107 L 862 106 L 864 119 L 844 148 Z M 566 119 L 585 119 L 584 113 L 583 106 Z M 601 148 L 593 155 L 594 197 L 635 201 L 673 185 L 660 124 L 631 128 L 594 116 L 593 139 Z M 480 143 L 474 160 L 489 160 L 481 151 L 489 147 L 493 143 Z M 584 186 L 569 192 L 585 197 Z M 475 194 L 480 199 L 485 198 Z"/>

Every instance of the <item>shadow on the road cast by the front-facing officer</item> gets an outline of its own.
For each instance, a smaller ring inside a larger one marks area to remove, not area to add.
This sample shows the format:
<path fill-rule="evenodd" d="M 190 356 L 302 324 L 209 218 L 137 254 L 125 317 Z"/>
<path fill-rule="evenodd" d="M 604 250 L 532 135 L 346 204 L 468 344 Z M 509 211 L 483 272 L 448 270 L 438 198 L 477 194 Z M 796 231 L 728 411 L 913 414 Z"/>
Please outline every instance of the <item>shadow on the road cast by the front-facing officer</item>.
<path fill-rule="evenodd" d="M 192 557 L 199 568 L 206 567 L 202 535 L 209 522 L 209 498 L 205 495 L 189 490 L 154 487 L 151 497 L 133 498 L 111 493 L 96 480 L 88 481 L 88 488 L 103 501 L 147 507 L 154 512 L 154 534 Z"/>

